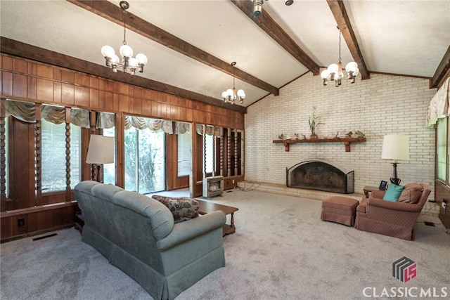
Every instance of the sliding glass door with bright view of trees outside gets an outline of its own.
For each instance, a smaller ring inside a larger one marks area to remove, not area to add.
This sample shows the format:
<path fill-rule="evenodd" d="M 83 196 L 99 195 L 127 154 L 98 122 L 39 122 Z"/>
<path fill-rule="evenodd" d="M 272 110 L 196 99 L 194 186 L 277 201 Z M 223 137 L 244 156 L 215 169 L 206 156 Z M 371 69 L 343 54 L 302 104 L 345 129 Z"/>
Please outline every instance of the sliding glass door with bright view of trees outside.
<path fill-rule="evenodd" d="M 124 138 L 125 190 L 165 190 L 165 132 L 131 127 Z"/>

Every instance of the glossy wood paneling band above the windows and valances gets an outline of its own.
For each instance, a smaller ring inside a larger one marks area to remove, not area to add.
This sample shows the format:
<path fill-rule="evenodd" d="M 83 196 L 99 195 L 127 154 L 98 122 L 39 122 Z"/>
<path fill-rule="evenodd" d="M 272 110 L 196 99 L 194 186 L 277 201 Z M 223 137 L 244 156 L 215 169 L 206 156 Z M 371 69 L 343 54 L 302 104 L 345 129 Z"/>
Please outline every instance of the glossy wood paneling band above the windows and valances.
<path fill-rule="evenodd" d="M 244 128 L 244 114 L 89 74 L 1 55 L 1 96 L 100 112 Z"/>

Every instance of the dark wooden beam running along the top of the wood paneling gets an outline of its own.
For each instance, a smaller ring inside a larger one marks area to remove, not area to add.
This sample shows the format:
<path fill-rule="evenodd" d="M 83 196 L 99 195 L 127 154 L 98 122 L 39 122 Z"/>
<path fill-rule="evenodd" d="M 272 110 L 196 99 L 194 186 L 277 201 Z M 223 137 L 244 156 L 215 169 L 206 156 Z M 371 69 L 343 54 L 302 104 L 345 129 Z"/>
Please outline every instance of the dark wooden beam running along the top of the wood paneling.
<path fill-rule="evenodd" d="M 134 86 L 140 86 L 144 89 L 152 89 L 154 91 L 160 91 L 162 93 L 168 93 L 170 95 L 179 96 L 181 98 L 188 98 L 202 103 L 224 107 L 236 112 L 247 112 L 246 107 L 240 105 L 232 105 L 230 103 L 224 103 L 221 100 L 212 98 L 209 96 L 180 89 L 176 86 L 169 84 L 163 84 L 159 81 L 147 79 L 145 77 L 134 76 L 122 72 L 113 73 L 109 67 L 98 65 L 96 63 L 90 63 L 86 60 L 80 60 L 79 58 L 73 58 L 72 56 L 65 56 L 64 54 L 50 51 L 37 46 L 24 44 L 20 41 L 8 39 L 6 37 L 0 37 L 1 53 L 6 53 L 11 56 L 18 56 L 21 58 L 27 58 L 30 60 L 36 60 L 41 63 L 48 63 L 50 65 L 56 65 L 58 67 L 64 67 L 66 69 L 91 74 L 114 81 L 119 81 L 124 84 L 131 84 Z"/>

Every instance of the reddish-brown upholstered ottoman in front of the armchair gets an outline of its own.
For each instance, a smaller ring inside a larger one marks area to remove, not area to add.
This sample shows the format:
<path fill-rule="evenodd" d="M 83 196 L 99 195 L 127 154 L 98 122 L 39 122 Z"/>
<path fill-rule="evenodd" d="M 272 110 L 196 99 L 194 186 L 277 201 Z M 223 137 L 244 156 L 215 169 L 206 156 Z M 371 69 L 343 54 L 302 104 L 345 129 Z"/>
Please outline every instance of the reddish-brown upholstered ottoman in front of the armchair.
<path fill-rule="evenodd" d="M 359 201 L 348 197 L 333 196 L 322 201 L 321 219 L 354 226 Z"/>

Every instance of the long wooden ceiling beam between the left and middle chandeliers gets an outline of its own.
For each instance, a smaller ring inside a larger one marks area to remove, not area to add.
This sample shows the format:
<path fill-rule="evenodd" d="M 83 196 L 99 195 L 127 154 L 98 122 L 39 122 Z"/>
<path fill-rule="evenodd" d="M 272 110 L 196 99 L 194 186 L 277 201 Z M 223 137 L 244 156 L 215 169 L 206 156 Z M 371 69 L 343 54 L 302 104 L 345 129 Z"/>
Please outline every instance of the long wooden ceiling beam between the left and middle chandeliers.
<path fill-rule="evenodd" d="M 215 56 L 212 56 L 210 53 L 203 51 L 200 48 L 197 48 L 186 41 L 175 37 L 173 34 L 162 30 L 160 27 L 156 27 L 155 25 L 139 18 L 137 15 L 133 15 L 128 11 L 122 11 L 122 8 L 111 3 L 110 1 L 105 0 L 95 0 L 95 1 L 85 1 L 85 0 L 67 0 L 72 4 L 75 4 L 81 8 L 86 9 L 86 11 L 90 11 L 91 13 L 95 13 L 96 15 L 100 15 L 101 17 L 110 20 L 111 22 L 115 22 L 118 25 L 124 24 L 124 14 L 126 18 L 127 29 L 138 34 L 141 34 L 143 37 L 151 39 L 152 41 L 156 41 L 159 44 L 167 46 L 174 51 L 177 51 L 189 58 L 194 60 L 198 60 L 200 63 L 204 63 L 214 69 L 217 69 L 221 72 L 224 72 L 229 75 L 234 75 L 236 78 L 251 84 L 252 86 L 256 86 L 259 89 L 264 91 L 268 91 L 269 93 L 273 93 L 275 96 L 278 96 L 280 91 L 276 86 L 272 86 L 257 77 L 252 76 L 242 70 L 239 70 L 237 67 L 232 67 L 231 62 L 224 62 Z"/>

